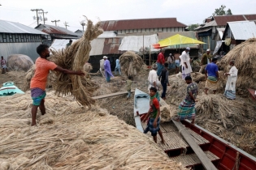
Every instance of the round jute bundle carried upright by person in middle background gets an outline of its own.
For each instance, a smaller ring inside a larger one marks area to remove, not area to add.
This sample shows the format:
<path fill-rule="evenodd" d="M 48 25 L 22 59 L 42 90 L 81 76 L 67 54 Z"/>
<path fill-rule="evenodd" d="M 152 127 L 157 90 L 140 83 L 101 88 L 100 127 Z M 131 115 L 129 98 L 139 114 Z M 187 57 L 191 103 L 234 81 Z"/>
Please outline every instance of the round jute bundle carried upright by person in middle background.
<path fill-rule="evenodd" d="M 142 58 L 132 51 L 123 53 L 119 57 L 119 61 L 122 73 L 124 73 L 126 76 L 135 77 L 143 65 Z"/>

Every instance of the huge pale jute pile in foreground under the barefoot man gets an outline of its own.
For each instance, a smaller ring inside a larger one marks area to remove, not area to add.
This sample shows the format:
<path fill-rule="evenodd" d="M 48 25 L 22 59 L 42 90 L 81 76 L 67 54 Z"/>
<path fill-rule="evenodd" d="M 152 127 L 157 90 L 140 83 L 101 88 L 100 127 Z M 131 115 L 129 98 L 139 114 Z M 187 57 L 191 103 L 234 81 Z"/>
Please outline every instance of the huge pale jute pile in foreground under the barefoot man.
<path fill-rule="evenodd" d="M 37 119 L 51 116 L 53 121 L 42 124 L 39 120 L 37 126 L 30 126 L 31 108 L 24 107 L 31 102 L 28 93 L 0 102 L 4 108 L 0 111 L 4 170 L 184 169 L 152 138 L 97 106 L 80 107 L 76 101 L 48 92 L 46 115 Z"/>

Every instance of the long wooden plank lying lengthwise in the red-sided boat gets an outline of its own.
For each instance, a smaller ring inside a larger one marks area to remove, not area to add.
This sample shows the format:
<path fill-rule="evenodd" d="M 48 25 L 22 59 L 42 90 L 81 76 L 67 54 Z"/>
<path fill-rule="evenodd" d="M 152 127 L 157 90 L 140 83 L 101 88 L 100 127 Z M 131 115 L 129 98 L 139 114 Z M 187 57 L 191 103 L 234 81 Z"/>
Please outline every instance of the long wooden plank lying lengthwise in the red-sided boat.
<path fill-rule="evenodd" d="M 205 152 L 202 151 L 201 147 L 197 145 L 197 143 L 194 141 L 192 136 L 188 133 L 187 130 L 185 130 L 184 125 L 182 125 L 180 121 L 172 121 L 172 122 L 174 123 L 174 125 L 176 125 L 176 127 L 179 130 L 179 133 L 182 135 L 185 141 L 188 142 L 189 146 L 193 149 L 197 157 L 200 159 L 202 166 L 206 170 L 217 170 L 217 168 L 215 168 L 215 165 L 212 164 L 210 159 L 206 156 Z"/>

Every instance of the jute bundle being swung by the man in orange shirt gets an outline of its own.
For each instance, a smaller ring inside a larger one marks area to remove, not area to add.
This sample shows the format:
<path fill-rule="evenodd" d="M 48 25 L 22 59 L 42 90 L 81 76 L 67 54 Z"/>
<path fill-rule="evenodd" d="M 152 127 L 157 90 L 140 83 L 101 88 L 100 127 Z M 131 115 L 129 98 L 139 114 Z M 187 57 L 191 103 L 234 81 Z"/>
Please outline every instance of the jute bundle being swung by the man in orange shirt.
<path fill-rule="evenodd" d="M 93 25 L 93 22 L 88 19 L 84 35 L 67 49 L 51 50 L 53 56 L 49 58 L 50 61 L 68 70 L 83 70 L 85 62 L 89 60 L 90 41 L 97 38 L 103 32 L 99 26 L 100 22 Z M 68 75 L 59 72 L 55 74 L 56 79 L 53 81 L 53 86 L 56 94 L 67 95 L 71 93 L 82 105 L 90 106 L 95 103 L 91 96 L 93 91 L 96 91 L 98 88 L 96 83 L 78 75 Z"/>

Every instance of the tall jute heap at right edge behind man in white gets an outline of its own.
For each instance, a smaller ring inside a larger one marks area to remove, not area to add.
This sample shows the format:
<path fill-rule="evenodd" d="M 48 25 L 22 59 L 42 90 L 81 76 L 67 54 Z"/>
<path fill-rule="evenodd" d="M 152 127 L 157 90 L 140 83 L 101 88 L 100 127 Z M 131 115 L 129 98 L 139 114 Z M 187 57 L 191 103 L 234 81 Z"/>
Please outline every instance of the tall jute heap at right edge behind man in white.
<path fill-rule="evenodd" d="M 230 69 L 229 62 L 234 60 L 238 70 L 236 93 L 245 94 L 247 88 L 256 89 L 256 38 L 250 38 L 228 52 L 221 61 L 224 73 Z M 246 93 L 247 94 L 247 93 Z"/>

